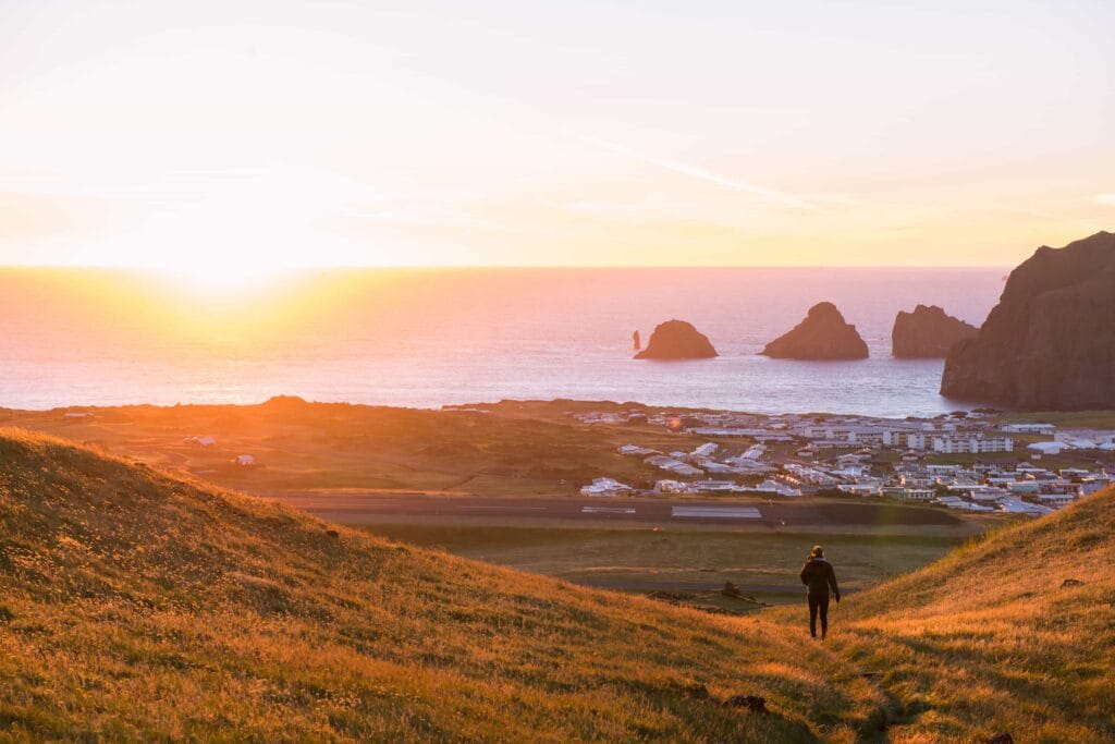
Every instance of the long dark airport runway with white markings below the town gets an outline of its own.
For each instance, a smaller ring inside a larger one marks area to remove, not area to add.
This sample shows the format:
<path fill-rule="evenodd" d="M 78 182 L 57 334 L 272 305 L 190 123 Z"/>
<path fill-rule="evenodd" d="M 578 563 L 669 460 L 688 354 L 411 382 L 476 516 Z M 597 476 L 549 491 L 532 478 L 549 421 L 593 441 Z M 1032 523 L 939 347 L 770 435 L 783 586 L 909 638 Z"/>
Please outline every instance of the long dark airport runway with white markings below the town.
<path fill-rule="evenodd" d="M 668 525 L 953 525 L 959 520 L 937 509 L 894 504 L 753 500 L 607 499 L 391 495 L 380 493 L 271 493 L 270 497 L 323 519 L 349 524 L 377 522 L 460 522 L 514 520 L 622 522 Z"/>

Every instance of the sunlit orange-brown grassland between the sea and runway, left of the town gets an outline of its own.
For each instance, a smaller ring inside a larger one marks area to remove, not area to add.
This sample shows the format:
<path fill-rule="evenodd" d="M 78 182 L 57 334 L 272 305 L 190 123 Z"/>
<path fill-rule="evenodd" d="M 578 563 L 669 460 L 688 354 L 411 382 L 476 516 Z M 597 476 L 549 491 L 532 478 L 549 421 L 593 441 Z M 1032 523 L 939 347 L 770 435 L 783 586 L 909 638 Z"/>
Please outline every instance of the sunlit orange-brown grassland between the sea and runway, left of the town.
<path fill-rule="evenodd" d="M 489 415 L 277 398 L 254 406 L 0 408 L 0 426 L 33 429 L 96 445 L 149 465 L 197 473 L 252 492 L 306 489 L 430 491 L 515 496 L 574 494 L 611 475 L 652 485 L 658 471 L 615 447 L 638 442 L 691 450 L 704 439 L 647 426 L 590 426 L 566 415 L 586 404 L 505 404 Z M 216 446 L 185 444 L 213 435 Z M 733 443 L 736 447 L 741 443 Z M 252 454 L 260 467 L 232 464 Z"/>

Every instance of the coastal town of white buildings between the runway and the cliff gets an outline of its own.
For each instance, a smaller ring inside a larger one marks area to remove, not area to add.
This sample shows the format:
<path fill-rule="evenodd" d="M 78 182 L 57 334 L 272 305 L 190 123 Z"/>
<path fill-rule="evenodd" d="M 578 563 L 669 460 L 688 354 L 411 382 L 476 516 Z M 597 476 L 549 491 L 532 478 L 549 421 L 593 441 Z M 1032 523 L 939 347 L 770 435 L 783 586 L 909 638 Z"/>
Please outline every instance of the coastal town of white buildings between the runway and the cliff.
<path fill-rule="evenodd" d="M 618 456 L 641 458 L 652 474 L 646 487 L 601 475 L 581 489 L 588 496 L 862 496 L 1039 516 L 1115 482 L 1115 431 L 1001 423 L 996 413 L 931 419 L 646 409 L 571 415 L 700 442 L 671 452 L 621 445 Z"/>

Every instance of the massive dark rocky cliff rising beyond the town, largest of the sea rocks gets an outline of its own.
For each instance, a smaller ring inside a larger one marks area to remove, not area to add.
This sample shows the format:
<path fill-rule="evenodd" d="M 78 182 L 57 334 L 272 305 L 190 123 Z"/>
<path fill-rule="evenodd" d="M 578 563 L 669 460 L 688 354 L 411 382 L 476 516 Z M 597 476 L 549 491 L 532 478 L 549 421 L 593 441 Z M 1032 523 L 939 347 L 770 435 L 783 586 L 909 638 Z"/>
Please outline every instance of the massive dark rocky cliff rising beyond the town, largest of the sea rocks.
<path fill-rule="evenodd" d="M 1115 408 L 1115 234 L 1041 247 L 979 334 L 949 352 L 943 395 L 1028 409 Z"/>

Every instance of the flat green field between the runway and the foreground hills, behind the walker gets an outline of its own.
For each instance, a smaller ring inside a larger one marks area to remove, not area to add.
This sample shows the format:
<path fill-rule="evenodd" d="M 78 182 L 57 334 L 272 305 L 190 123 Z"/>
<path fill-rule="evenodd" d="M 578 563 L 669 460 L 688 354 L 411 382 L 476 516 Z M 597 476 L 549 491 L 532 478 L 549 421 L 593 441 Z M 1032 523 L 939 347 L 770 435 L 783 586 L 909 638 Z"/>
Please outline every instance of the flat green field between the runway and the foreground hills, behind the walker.
<path fill-rule="evenodd" d="M 574 583 L 648 593 L 730 581 L 770 603 L 801 600 L 797 578 L 817 541 L 846 591 L 875 586 L 944 555 L 956 535 L 377 524 L 370 532 Z"/>

